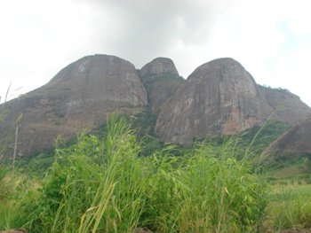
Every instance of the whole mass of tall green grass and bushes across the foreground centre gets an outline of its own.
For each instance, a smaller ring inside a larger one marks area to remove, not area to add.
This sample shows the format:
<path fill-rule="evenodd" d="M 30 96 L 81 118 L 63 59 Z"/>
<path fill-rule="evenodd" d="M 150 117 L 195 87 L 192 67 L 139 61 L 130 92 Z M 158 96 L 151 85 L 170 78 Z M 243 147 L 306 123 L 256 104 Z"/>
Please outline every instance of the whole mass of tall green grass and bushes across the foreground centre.
<path fill-rule="evenodd" d="M 108 133 L 56 150 L 38 195 L 25 198 L 29 232 L 259 232 L 266 186 L 235 141 L 166 146 L 140 157 L 125 118 Z M 20 226 L 17 226 L 20 227 Z M 1 226 L 0 226 L 1 228 Z"/>

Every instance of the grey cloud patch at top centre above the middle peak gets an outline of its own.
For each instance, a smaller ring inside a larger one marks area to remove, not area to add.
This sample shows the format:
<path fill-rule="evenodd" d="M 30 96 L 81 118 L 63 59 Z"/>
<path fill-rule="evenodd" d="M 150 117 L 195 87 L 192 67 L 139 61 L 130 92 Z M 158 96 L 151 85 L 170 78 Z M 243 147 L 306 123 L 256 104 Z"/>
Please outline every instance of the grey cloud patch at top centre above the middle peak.
<path fill-rule="evenodd" d="M 99 19 L 96 43 L 142 66 L 167 56 L 176 42 L 206 43 L 215 1 L 84 1 L 109 12 Z M 111 24 L 107 29 L 107 23 Z M 104 27 L 100 30 L 100 27 Z"/>

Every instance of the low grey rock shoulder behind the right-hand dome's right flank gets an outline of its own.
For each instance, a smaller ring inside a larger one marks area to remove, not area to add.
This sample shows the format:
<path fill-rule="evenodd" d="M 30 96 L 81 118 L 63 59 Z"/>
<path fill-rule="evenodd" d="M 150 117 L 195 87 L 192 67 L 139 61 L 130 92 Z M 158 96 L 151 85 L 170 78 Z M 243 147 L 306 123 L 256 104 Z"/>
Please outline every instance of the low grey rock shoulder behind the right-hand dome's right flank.
<path fill-rule="evenodd" d="M 259 86 L 267 104 L 274 109 L 273 118 L 293 125 L 311 114 L 311 109 L 287 89 L 271 89 Z"/>

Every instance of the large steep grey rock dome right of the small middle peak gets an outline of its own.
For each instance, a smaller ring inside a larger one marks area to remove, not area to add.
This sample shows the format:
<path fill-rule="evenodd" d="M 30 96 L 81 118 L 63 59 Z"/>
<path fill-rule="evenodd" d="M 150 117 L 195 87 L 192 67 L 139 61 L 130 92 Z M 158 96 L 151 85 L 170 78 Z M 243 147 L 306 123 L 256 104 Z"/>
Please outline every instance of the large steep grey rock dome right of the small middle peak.
<path fill-rule="evenodd" d="M 272 113 L 259 86 L 232 58 L 199 66 L 165 103 L 156 133 L 165 142 L 192 144 L 208 135 L 233 135 Z"/>

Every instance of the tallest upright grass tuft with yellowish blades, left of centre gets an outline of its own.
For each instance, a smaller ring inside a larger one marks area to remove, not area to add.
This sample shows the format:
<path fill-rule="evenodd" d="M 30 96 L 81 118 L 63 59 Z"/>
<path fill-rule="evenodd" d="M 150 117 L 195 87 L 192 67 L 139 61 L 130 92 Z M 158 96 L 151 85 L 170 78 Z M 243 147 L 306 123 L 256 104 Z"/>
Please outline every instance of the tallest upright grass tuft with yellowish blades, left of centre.
<path fill-rule="evenodd" d="M 140 219 L 145 182 L 137 158 L 140 147 L 124 118 L 108 122 L 104 145 L 102 180 L 91 207 L 83 215 L 79 232 L 126 232 L 134 229 Z"/>

